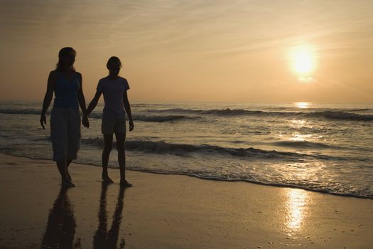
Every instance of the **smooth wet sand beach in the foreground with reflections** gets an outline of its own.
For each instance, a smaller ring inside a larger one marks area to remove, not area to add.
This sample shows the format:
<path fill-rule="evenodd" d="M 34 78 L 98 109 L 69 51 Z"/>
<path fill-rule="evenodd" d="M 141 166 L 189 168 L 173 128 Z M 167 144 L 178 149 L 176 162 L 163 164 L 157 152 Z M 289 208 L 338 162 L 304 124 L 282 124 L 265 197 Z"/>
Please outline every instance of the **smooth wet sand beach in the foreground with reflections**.
<path fill-rule="evenodd" d="M 0 248 L 372 248 L 373 200 L 0 154 Z M 109 170 L 119 182 L 119 171 Z"/>

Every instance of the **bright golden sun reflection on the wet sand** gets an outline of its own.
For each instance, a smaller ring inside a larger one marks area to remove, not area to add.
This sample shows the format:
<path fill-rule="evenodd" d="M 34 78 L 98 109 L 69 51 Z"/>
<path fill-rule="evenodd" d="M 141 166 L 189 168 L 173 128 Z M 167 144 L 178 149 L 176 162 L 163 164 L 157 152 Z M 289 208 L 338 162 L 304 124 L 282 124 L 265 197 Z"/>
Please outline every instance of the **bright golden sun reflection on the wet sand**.
<path fill-rule="evenodd" d="M 286 189 L 288 201 L 286 202 L 286 230 L 294 233 L 300 230 L 308 216 L 308 203 L 310 202 L 307 191 L 302 189 Z"/>

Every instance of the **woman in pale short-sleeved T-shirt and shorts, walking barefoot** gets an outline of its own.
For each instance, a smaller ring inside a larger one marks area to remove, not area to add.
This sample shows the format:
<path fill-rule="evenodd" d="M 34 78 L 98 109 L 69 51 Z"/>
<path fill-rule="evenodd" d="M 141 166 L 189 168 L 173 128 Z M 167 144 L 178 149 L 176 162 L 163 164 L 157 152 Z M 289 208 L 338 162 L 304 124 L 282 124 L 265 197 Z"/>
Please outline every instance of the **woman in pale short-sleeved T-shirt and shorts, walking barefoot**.
<path fill-rule="evenodd" d="M 127 96 L 129 84 L 125 78 L 119 76 L 121 70 L 121 60 L 118 57 L 111 57 L 107 61 L 107 69 L 109 76 L 99 80 L 97 91 L 92 102 L 87 109 L 87 114 L 90 115 L 101 94 L 104 94 L 104 112 L 102 114 L 101 132 L 104 135 L 104 151 L 102 152 L 102 180 L 107 183 L 112 183 L 112 179 L 107 174 L 107 164 L 109 162 L 109 154 L 112 151 L 113 134 L 117 139 L 118 162 L 120 169 L 120 184 L 121 186 L 132 186 L 126 181 L 126 154 L 124 151 L 124 140 L 126 139 L 126 119 L 129 118 L 129 131 L 134 129 L 134 121 L 132 120 L 131 107 Z"/>

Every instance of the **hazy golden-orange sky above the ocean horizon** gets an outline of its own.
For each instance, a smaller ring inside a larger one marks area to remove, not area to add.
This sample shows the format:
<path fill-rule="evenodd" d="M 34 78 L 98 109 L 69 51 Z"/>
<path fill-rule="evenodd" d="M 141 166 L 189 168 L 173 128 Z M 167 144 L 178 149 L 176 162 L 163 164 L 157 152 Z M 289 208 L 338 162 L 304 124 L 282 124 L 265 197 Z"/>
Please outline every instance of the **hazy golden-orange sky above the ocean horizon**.
<path fill-rule="evenodd" d="M 370 0 L 0 0 L 0 100 L 41 102 L 71 46 L 87 102 L 112 55 L 130 101 L 373 102 L 372 10 Z"/>

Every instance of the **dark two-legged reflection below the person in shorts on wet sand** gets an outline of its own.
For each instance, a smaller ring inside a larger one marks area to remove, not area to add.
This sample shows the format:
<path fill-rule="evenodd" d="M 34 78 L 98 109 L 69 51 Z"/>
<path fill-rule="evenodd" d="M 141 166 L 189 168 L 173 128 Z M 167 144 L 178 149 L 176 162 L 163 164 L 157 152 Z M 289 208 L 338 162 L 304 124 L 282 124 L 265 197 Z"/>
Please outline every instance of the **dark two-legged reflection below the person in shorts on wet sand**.
<path fill-rule="evenodd" d="M 93 248 L 117 248 L 119 228 L 121 225 L 121 212 L 123 211 L 124 187 L 120 187 L 117 205 L 113 215 L 112 228 L 107 231 L 107 184 L 102 183 L 99 201 L 99 226 L 93 236 Z M 121 239 L 119 248 L 124 248 L 125 241 Z"/>

